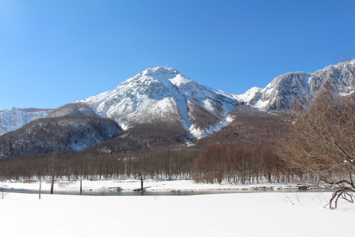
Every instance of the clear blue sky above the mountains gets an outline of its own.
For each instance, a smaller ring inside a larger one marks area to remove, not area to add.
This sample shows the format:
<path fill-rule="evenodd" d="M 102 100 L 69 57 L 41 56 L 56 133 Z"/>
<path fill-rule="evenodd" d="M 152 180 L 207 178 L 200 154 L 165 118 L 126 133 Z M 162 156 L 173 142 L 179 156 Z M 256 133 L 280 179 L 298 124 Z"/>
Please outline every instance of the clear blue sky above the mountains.
<path fill-rule="evenodd" d="M 354 0 L 0 0 L 0 110 L 57 108 L 146 68 L 233 94 L 355 48 Z"/>

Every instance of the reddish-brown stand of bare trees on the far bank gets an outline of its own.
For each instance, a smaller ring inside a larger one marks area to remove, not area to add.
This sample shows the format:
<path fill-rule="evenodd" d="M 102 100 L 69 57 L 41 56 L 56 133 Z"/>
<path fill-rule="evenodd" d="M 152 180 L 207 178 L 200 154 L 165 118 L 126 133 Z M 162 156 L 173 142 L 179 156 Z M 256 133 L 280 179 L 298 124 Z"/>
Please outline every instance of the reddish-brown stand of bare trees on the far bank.
<path fill-rule="evenodd" d="M 277 146 L 210 146 L 196 162 L 194 179 L 198 182 L 229 184 L 287 183 L 314 180 L 297 169 L 286 166 L 277 154 Z"/>

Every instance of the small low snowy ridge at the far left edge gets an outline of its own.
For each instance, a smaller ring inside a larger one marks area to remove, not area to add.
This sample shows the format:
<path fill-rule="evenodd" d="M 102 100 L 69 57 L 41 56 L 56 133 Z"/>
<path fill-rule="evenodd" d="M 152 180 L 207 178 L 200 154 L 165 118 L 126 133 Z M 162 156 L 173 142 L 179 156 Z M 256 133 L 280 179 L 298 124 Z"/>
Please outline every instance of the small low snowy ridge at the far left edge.
<path fill-rule="evenodd" d="M 25 112 L 21 109 L 11 108 L 0 112 L 0 135 L 14 131 L 28 122 L 38 118 L 46 118 L 50 111 Z"/>

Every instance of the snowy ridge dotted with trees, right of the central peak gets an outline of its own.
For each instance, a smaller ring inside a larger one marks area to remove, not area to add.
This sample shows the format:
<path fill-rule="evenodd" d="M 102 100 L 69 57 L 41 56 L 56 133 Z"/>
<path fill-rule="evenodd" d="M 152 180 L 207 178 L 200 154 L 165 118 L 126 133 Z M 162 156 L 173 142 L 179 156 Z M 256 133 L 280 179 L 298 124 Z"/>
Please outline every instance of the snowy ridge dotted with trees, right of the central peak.
<path fill-rule="evenodd" d="M 253 87 L 237 97 L 263 111 L 290 110 L 293 100 L 307 104 L 324 84 L 344 96 L 354 92 L 355 75 L 349 64 L 330 65 L 315 73 L 293 72 L 275 78 L 265 88 Z"/>

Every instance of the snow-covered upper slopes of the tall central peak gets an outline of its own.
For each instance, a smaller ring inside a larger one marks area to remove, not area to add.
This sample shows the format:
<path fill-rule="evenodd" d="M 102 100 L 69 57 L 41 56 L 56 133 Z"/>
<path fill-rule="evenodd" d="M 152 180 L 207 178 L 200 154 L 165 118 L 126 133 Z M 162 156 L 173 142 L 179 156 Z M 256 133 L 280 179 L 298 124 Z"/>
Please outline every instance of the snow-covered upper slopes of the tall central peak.
<path fill-rule="evenodd" d="M 228 123 L 225 116 L 240 101 L 235 95 L 186 78 L 173 68 L 157 67 L 127 79 L 114 90 L 73 103 L 89 105 L 97 115 L 116 120 L 124 129 L 132 122 L 147 123 L 163 118 L 178 120 L 192 136 L 200 138 Z M 212 114 L 218 119 L 205 127 L 193 123 L 196 113 L 191 104 L 202 108 L 199 116 Z"/>

